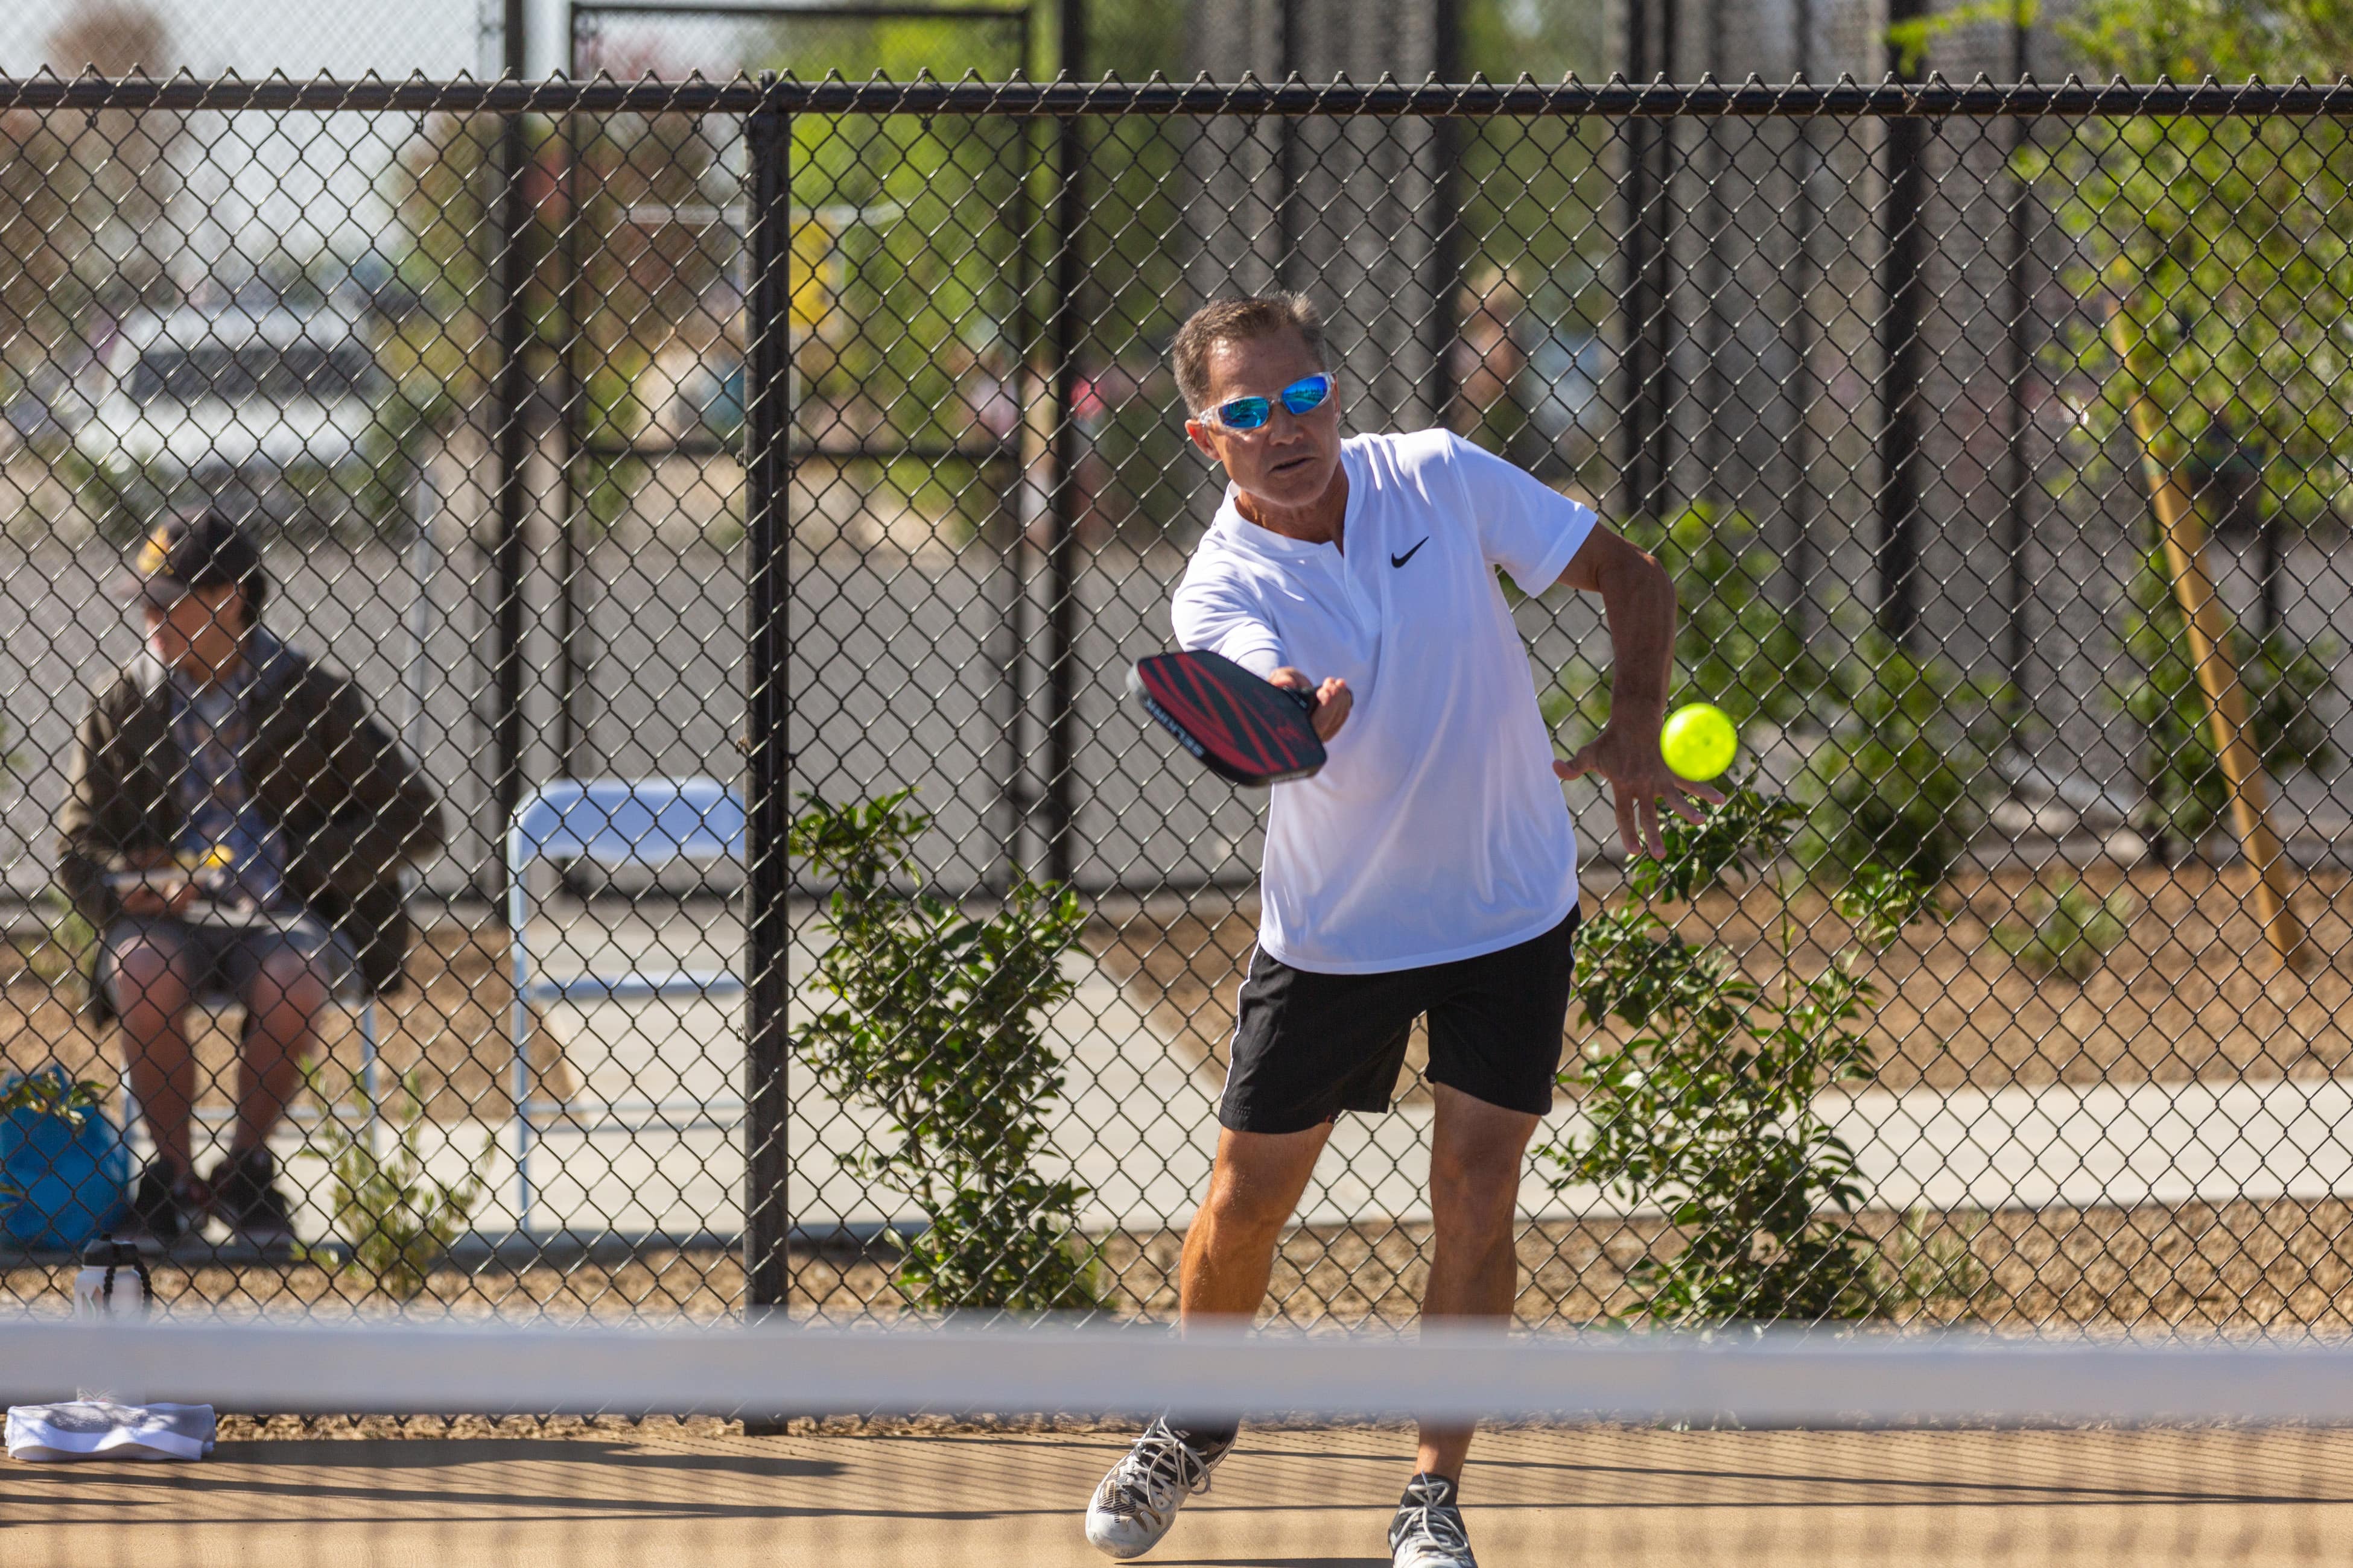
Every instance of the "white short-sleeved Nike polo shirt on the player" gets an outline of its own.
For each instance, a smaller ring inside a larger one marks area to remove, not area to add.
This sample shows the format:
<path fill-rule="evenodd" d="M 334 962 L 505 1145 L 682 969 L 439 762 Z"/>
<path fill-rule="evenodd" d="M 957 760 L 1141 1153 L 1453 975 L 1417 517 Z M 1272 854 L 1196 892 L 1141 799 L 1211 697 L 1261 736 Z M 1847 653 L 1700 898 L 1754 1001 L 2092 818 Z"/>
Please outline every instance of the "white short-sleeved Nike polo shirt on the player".
<path fill-rule="evenodd" d="M 1355 691 L 1325 769 L 1273 788 L 1259 945 L 1353 976 L 1525 943 L 1577 907 L 1577 832 L 1494 569 L 1541 592 L 1593 510 L 1447 430 L 1358 435 L 1341 463 L 1346 552 L 1228 489 L 1172 607 L 1188 649 Z"/>

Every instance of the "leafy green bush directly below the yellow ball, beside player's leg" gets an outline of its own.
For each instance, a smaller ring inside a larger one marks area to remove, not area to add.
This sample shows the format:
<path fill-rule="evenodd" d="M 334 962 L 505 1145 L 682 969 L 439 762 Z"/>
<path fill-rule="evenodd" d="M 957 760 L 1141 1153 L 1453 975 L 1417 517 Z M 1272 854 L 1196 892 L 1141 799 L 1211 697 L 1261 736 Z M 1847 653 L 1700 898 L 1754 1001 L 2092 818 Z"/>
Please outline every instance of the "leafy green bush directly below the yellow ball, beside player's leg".
<path fill-rule="evenodd" d="M 1704 823 L 1668 823 L 1666 856 L 1635 863 L 1635 893 L 1692 898 L 1751 884 L 1788 846 L 1800 811 L 1744 783 Z M 1558 1187 L 1593 1182 L 1659 1204 L 1682 1232 L 1673 1255 L 1628 1274 L 1638 1319 L 1882 1316 L 1913 1300 L 1918 1267 L 1889 1267 L 1852 1213 L 1866 1201 L 1854 1150 L 1817 1095 L 1871 1077 L 1864 1020 L 1878 1001 L 1864 959 L 1929 910 L 1929 891 L 1868 867 L 1842 896 L 1854 940 L 1798 973 L 1788 903 L 1767 943 L 1779 973 L 1758 983 L 1718 943 L 1689 943 L 1649 907 L 1609 910 L 1577 940 L 1586 1025 L 1614 1018 L 1572 1067 L 1584 1126 L 1541 1150 Z"/>

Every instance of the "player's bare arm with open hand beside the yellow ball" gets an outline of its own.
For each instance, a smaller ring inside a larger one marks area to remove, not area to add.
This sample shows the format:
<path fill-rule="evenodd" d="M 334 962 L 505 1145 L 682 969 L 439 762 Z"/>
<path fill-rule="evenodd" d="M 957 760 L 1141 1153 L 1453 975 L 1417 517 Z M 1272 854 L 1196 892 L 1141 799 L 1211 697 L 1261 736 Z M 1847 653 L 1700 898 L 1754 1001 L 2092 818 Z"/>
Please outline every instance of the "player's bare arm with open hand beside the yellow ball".
<path fill-rule="evenodd" d="M 1647 552 L 1609 529 L 1593 529 L 1569 557 L 1560 581 L 1600 595 L 1609 621 L 1609 724 L 1567 762 L 1562 778 L 1600 773 L 1617 806 L 1619 839 L 1628 856 L 1666 853 L 1659 835 L 1659 802 L 1687 820 L 1699 820 L 1692 797 L 1722 802 L 1708 785 L 1692 783 L 1659 755 L 1666 722 L 1666 684 L 1675 663 L 1675 583 Z"/>

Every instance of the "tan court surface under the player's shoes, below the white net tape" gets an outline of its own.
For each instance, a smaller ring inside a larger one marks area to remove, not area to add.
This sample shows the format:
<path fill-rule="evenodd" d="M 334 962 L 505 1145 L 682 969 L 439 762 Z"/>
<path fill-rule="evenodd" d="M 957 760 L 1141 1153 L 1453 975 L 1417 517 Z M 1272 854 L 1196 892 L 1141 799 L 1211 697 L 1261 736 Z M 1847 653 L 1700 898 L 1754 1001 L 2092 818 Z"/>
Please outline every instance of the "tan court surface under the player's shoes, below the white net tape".
<path fill-rule="evenodd" d="M 9 1465 L 24 1568 L 840 1563 L 1078 1568 L 1113 1432 L 744 1436 L 645 1422 L 452 1441 L 242 1436 L 202 1465 Z M 1153 1563 L 1377 1568 L 1398 1429 L 1245 1429 Z M 2344 1432 L 1489 1432 L 1480 1561 L 2341 1563 Z"/>

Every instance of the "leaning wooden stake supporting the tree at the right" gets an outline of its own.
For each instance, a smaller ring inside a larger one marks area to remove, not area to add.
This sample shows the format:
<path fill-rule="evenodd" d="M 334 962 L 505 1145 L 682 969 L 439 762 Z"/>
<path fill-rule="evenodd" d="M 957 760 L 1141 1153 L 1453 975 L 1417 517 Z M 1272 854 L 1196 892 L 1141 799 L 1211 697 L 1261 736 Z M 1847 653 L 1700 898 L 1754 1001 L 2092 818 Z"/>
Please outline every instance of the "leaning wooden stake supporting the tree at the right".
<path fill-rule="evenodd" d="M 2207 724 L 2214 731 L 2214 755 L 2221 759 L 2221 776 L 2231 790 L 2231 818 L 2238 823 L 2240 853 L 2254 867 L 2254 907 L 2264 919 L 2264 933 L 2287 964 L 2304 957 L 2304 924 L 2289 907 L 2289 863 L 2280 849 L 2280 835 L 2271 830 L 2271 788 L 2264 783 L 2264 757 L 2254 745 L 2254 729 L 2247 722 L 2247 686 L 2231 663 L 2231 621 L 2214 595 L 2214 578 L 2205 562 L 2205 524 L 2181 475 L 2158 454 L 2165 435 L 2165 416 L 2148 397 L 2148 378 L 2139 371 L 2146 355 L 2132 339 L 2132 322 L 2118 310 L 2108 317 L 2108 341 L 2118 360 L 2125 360 L 2134 376 L 2132 435 L 2141 442 L 2141 473 L 2148 477 L 2148 498 L 2158 512 L 2158 534 L 2165 541 L 2165 564 L 2174 578 L 2174 599 L 2191 632 L 2191 661 L 2198 665 L 2198 684 L 2207 696 Z"/>

